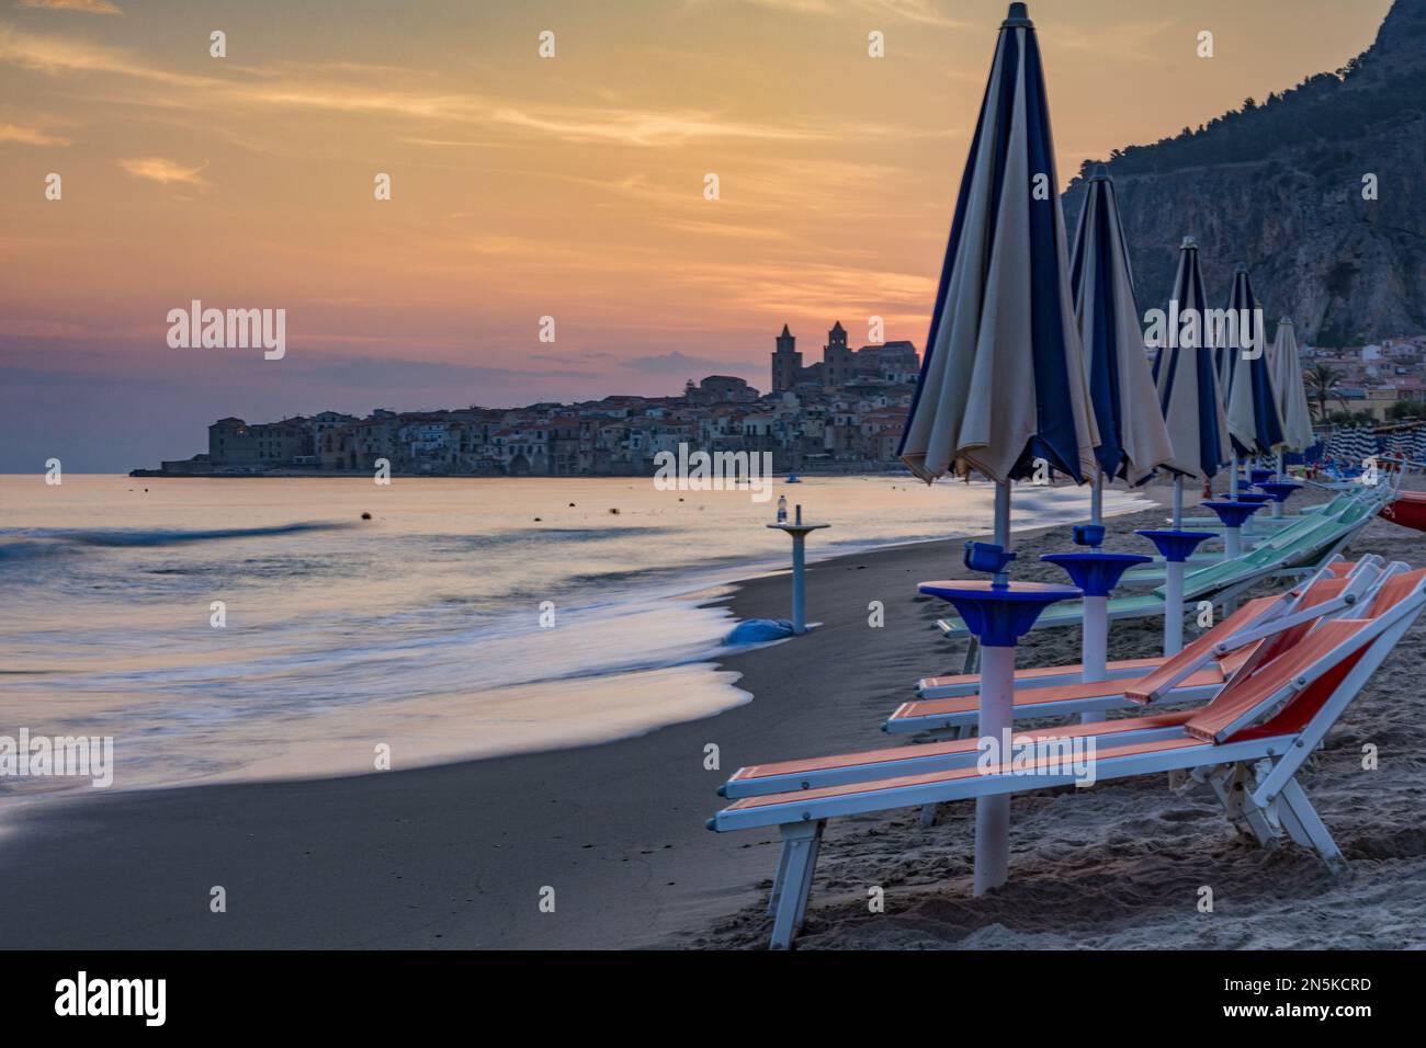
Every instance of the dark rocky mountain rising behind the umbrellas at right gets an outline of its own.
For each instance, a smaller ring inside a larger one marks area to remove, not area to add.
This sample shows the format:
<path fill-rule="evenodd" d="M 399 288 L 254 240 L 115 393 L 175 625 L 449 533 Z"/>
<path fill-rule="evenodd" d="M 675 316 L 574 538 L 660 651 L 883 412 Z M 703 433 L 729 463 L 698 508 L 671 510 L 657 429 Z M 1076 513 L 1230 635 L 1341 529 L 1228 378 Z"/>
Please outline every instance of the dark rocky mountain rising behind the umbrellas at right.
<path fill-rule="evenodd" d="M 1165 304 L 1192 234 L 1215 304 L 1248 262 L 1269 329 L 1292 317 L 1323 346 L 1426 332 L 1426 0 L 1396 0 L 1336 73 L 1087 161 L 1065 191 L 1071 232 L 1095 163 L 1114 175 L 1141 311 Z"/>

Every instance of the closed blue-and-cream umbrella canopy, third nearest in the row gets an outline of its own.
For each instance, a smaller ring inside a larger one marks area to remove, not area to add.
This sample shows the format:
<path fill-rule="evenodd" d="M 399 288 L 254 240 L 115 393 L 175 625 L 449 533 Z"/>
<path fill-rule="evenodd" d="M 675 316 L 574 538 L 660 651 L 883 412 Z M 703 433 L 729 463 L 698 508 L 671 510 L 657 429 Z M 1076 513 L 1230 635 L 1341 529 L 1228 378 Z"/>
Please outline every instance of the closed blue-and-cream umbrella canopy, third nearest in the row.
<path fill-rule="evenodd" d="M 1154 359 L 1154 384 L 1174 445 L 1169 468 L 1208 479 L 1228 461 L 1228 421 L 1204 302 L 1198 242 L 1185 237 L 1169 295 L 1168 329 Z"/>

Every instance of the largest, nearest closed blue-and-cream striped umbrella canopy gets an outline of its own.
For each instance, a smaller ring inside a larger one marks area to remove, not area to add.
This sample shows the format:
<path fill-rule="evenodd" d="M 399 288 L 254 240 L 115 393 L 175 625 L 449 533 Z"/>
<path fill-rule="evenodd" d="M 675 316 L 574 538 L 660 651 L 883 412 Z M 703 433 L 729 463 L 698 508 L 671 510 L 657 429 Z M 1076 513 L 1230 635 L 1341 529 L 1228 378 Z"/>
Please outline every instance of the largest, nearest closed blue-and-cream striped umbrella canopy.
<path fill-rule="evenodd" d="M 900 458 L 927 483 L 1007 482 L 1035 459 L 1082 482 L 1098 443 L 1070 295 L 1064 212 L 1025 4 L 1000 30 L 961 175 Z"/>

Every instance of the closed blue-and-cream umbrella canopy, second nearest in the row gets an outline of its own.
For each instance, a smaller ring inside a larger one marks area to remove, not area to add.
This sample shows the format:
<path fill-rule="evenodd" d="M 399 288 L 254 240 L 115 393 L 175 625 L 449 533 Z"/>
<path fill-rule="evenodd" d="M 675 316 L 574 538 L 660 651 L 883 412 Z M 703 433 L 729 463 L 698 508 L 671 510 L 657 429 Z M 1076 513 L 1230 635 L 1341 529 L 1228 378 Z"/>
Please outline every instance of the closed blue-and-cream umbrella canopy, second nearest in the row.
<path fill-rule="evenodd" d="M 1158 466 L 1172 463 L 1174 445 L 1144 352 L 1119 202 L 1104 164 L 1089 178 L 1079 212 L 1070 254 L 1070 288 L 1099 429 L 1095 449 L 1099 469 L 1111 479 L 1144 483 Z"/>

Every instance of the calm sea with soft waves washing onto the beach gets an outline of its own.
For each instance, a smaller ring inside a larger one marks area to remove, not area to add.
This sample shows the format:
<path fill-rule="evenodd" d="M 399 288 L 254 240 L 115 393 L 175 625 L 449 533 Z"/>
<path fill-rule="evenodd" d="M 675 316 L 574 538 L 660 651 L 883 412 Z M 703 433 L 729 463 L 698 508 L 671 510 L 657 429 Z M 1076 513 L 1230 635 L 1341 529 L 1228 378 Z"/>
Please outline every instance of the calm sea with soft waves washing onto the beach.
<path fill-rule="evenodd" d="M 113 739 L 113 787 L 362 774 L 609 741 L 752 700 L 726 597 L 823 558 L 988 530 L 992 488 L 907 476 L 0 476 L 0 747 Z M 1105 512 L 1145 508 L 1107 492 Z M 1088 489 L 1018 486 L 1014 528 Z M 948 567 L 943 565 L 940 569 Z M 789 589 L 790 595 L 790 589 Z M 816 606 L 809 619 L 816 622 Z M 794 642 L 793 642 L 794 643 Z M 0 803 L 88 780 L 0 776 Z"/>

